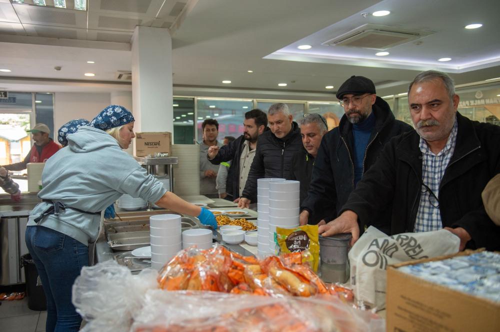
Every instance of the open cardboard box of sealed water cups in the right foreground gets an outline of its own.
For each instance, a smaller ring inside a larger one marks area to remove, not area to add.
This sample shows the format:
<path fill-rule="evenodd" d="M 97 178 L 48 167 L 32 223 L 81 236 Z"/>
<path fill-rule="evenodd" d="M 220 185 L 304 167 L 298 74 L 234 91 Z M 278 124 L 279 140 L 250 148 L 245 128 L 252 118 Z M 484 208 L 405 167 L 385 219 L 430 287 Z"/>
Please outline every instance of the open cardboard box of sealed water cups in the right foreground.
<path fill-rule="evenodd" d="M 479 250 L 480 251 L 480 250 Z M 499 332 L 500 304 L 400 272 L 398 267 L 478 251 L 395 264 L 387 269 L 387 332 Z"/>

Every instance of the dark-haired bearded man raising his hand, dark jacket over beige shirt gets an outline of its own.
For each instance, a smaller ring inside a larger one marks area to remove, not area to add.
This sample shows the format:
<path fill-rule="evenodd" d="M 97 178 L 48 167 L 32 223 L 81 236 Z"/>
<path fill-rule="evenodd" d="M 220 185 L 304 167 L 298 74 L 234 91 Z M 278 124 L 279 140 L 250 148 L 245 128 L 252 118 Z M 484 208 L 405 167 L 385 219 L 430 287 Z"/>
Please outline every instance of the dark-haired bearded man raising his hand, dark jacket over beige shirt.
<path fill-rule="evenodd" d="M 267 116 L 260 109 L 252 109 L 245 113 L 243 135 L 222 147 L 216 145 L 208 148 L 206 155 L 213 165 L 231 161 L 227 171 L 225 191 L 219 197 L 238 202 L 246 184 L 248 172 L 255 156 L 257 138 L 267 129 Z"/>

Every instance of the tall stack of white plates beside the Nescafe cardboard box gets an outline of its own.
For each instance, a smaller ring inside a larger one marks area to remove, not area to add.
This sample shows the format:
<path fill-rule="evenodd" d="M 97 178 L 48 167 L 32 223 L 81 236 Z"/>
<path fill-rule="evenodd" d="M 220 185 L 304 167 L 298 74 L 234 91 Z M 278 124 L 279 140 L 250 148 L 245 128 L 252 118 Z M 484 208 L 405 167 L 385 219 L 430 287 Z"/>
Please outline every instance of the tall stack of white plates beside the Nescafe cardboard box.
<path fill-rule="evenodd" d="M 178 158 L 178 164 L 173 165 L 175 194 L 199 195 L 199 145 L 173 144 L 172 156 Z"/>

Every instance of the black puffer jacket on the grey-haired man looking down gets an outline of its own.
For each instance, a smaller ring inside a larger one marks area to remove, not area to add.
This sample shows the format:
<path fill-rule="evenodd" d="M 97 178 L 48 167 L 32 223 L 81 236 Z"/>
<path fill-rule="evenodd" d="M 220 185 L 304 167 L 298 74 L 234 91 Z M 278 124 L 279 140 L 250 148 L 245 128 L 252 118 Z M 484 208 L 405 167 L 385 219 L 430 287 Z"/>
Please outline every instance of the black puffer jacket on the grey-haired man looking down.
<path fill-rule="evenodd" d="M 283 138 L 277 138 L 268 130 L 258 136 L 257 149 L 241 195 L 252 203 L 257 201 L 257 179 L 290 178 L 291 157 L 302 148 L 300 129 L 292 122 L 290 132 Z"/>

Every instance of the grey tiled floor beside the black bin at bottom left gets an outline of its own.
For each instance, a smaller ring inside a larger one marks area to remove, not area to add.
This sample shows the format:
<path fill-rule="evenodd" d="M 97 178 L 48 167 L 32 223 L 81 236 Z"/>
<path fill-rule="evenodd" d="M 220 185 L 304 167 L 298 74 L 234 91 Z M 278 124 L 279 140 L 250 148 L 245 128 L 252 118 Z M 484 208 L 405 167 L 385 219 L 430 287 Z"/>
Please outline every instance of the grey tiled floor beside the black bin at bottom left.
<path fill-rule="evenodd" d="M 0 306 L 0 332 L 45 331 L 46 311 L 28 309 L 26 298 L 16 301 L 2 301 Z"/>

